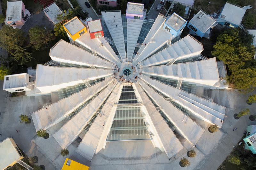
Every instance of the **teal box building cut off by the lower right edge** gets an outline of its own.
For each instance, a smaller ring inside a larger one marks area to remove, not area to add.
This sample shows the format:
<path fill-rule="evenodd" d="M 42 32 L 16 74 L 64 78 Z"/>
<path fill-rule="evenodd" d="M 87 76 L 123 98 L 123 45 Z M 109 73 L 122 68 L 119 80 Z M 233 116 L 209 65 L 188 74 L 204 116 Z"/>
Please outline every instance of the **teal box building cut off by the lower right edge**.
<path fill-rule="evenodd" d="M 256 154 L 256 125 L 250 125 L 247 127 L 247 134 L 243 140 L 245 142 L 245 149 Z"/>

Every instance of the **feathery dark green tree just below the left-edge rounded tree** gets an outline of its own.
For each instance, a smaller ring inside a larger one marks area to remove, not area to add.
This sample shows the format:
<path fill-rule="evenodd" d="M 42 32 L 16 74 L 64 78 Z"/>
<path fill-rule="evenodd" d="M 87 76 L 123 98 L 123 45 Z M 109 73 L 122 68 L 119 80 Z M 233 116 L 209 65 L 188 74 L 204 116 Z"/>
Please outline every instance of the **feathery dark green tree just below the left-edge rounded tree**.
<path fill-rule="evenodd" d="M 19 62 L 21 65 L 33 59 L 31 53 L 27 52 L 27 49 L 25 47 L 23 48 L 21 46 L 15 45 L 13 50 L 15 51 L 13 53 L 11 52 L 11 59 L 13 59 L 16 62 Z"/>

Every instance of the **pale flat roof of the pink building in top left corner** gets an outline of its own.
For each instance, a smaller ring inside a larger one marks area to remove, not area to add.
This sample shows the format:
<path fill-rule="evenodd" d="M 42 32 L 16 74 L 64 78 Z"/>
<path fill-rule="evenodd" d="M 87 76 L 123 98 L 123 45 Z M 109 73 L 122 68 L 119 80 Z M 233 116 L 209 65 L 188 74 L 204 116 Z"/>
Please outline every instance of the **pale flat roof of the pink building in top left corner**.
<path fill-rule="evenodd" d="M 21 0 L 7 1 L 6 21 L 19 21 L 23 2 Z"/>

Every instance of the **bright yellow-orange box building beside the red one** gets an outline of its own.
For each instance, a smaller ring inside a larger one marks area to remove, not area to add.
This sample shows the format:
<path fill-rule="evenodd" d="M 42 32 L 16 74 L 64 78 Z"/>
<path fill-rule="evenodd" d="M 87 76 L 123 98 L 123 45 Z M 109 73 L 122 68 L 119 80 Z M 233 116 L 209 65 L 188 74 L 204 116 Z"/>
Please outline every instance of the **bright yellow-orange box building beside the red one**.
<path fill-rule="evenodd" d="M 68 22 L 63 24 L 63 27 L 73 41 L 87 32 L 85 25 L 77 17 L 70 19 Z"/>

